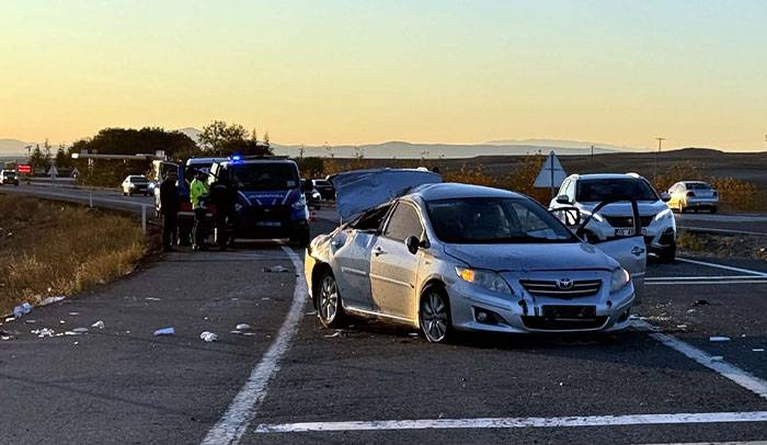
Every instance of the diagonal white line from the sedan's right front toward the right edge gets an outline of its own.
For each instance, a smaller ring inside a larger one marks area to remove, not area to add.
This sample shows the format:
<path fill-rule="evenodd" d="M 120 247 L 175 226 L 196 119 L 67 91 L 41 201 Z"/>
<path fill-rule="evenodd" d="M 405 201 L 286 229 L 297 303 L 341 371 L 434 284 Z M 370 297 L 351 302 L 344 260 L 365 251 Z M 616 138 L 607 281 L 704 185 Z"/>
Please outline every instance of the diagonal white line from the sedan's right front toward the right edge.
<path fill-rule="evenodd" d="M 698 364 L 706 366 L 722 377 L 725 377 L 743 388 L 756 393 L 757 396 L 767 399 L 767 381 L 739 368 L 735 365 L 731 365 L 724 361 L 713 360 L 712 355 L 709 355 L 675 336 L 656 332 L 657 328 L 644 320 L 633 320 L 631 326 L 643 331 L 650 331 L 650 336 L 657 340 L 663 345 L 668 346 L 676 352 L 680 352 L 688 358 L 698 362 Z"/>

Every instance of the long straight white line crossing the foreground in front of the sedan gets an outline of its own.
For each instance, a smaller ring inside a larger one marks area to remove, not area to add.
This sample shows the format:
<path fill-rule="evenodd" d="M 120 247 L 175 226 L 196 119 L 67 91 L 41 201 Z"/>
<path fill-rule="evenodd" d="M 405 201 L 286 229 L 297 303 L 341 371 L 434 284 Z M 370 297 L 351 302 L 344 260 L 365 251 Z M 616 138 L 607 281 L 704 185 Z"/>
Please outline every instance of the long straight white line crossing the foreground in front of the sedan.
<path fill-rule="evenodd" d="M 767 411 L 701 412 L 678 414 L 588 415 L 566 418 L 419 419 L 351 422 L 300 422 L 261 424 L 256 433 L 305 433 L 321 431 L 523 429 L 680 423 L 767 422 Z"/>

